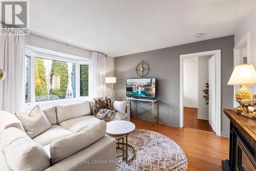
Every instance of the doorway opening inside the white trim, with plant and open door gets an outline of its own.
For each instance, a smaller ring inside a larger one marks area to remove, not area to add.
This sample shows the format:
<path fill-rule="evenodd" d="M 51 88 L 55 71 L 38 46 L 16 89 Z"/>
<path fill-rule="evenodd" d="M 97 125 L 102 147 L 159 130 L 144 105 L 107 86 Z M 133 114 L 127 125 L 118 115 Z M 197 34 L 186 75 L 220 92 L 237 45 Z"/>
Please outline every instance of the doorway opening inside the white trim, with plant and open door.
<path fill-rule="evenodd" d="M 183 59 L 184 127 L 216 132 L 216 113 L 209 112 L 215 105 L 209 96 L 215 93 L 215 58 L 215 55 L 206 55 Z"/>

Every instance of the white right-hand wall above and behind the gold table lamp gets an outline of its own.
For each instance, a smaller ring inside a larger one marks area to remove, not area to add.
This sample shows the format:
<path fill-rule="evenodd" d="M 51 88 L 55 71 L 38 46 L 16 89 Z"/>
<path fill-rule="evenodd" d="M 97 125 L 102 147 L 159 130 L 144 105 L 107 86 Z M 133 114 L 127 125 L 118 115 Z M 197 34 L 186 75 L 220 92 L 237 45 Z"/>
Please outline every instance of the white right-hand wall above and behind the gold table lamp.
<path fill-rule="evenodd" d="M 251 10 L 245 19 L 243 19 L 236 31 L 234 32 L 234 45 L 236 46 L 239 40 L 247 33 L 250 32 L 250 63 L 256 68 L 256 6 Z M 252 94 L 256 93 L 256 86 L 251 86 L 250 91 Z"/>

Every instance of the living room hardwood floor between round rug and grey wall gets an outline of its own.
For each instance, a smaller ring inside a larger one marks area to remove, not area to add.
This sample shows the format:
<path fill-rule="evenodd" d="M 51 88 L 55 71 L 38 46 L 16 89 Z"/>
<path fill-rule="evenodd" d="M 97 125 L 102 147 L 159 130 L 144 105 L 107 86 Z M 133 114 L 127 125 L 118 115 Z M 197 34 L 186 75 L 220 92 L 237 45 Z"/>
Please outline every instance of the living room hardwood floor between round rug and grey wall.
<path fill-rule="evenodd" d="M 180 145 L 188 159 L 188 170 L 222 170 L 221 160 L 229 157 L 229 139 L 195 129 L 164 125 L 131 118 L 137 129 L 163 134 Z"/>

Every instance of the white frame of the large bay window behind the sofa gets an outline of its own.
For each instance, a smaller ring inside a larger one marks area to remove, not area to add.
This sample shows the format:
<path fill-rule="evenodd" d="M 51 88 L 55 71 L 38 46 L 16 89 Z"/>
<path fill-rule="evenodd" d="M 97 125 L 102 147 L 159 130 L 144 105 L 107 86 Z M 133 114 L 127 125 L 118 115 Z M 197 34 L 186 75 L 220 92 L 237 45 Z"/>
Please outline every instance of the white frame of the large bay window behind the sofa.
<path fill-rule="evenodd" d="M 48 102 L 59 102 L 59 101 L 70 101 L 70 100 L 74 100 L 74 99 L 89 99 L 90 96 L 90 90 L 91 90 L 91 60 L 90 59 L 81 59 L 81 57 L 77 57 L 77 59 L 74 59 L 73 55 L 70 55 L 70 57 L 68 54 L 65 54 L 64 56 L 59 56 L 58 55 L 54 55 L 54 54 L 49 54 L 49 53 L 42 53 L 42 52 L 36 52 L 33 51 L 29 48 L 25 48 L 25 56 L 30 57 L 28 60 L 30 60 L 30 73 L 28 74 L 28 77 L 30 77 L 30 82 L 28 82 L 28 84 L 30 84 L 30 102 L 26 102 L 25 106 L 31 105 L 31 104 L 41 104 L 41 103 L 48 103 Z M 74 98 L 70 98 L 70 99 L 58 99 L 58 100 L 49 100 L 49 101 L 40 101 L 40 102 L 36 102 L 35 101 L 35 58 L 43 58 L 43 59 L 50 59 L 50 60 L 59 60 L 59 61 L 63 61 L 63 62 L 70 62 L 70 63 L 75 63 L 76 65 L 76 97 Z M 88 72 L 88 83 L 89 83 L 89 88 L 88 88 L 88 96 L 80 96 L 80 65 L 88 65 L 89 67 L 89 72 Z M 28 86 L 28 87 L 29 87 Z"/>

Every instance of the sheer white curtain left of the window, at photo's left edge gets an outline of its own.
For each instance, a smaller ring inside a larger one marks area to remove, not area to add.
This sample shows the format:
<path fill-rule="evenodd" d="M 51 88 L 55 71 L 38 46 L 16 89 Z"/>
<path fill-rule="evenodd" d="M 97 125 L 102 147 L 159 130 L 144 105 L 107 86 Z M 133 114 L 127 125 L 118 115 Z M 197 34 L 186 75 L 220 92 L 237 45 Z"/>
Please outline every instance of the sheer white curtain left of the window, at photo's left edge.
<path fill-rule="evenodd" d="M 25 106 L 25 36 L 0 36 L 0 68 L 6 78 L 0 81 L 0 110 L 14 113 Z"/>

